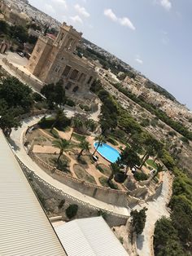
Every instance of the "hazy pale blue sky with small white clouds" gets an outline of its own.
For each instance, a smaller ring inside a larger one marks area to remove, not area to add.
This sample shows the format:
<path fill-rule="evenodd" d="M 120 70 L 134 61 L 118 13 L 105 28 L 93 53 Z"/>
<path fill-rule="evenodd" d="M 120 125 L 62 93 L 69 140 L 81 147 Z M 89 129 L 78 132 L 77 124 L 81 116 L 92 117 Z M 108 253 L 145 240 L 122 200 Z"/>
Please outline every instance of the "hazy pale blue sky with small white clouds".
<path fill-rule="evenodd" d="M 192 0 L 29 0 L 192 109 Z"/>

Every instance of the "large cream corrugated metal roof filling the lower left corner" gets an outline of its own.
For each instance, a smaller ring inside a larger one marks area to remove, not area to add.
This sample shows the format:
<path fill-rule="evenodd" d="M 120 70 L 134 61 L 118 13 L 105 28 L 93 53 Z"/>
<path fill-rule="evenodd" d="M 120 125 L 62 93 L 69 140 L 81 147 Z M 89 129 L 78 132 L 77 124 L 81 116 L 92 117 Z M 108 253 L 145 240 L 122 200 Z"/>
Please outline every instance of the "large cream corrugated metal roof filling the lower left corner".
<path fill-rule="evenodd" d="M 0 255 L 66 255 L 1 130 Z"/>

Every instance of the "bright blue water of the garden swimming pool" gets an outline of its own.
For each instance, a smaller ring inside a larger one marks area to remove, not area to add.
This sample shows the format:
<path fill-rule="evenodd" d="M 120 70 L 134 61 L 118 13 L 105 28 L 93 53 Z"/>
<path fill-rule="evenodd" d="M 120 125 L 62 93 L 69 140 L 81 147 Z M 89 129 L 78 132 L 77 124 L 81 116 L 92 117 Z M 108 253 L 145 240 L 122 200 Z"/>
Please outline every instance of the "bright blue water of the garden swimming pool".
<path fill-rule="evenodd" d="M 98 143 L 94 143 L 94 148 L 97 148 Z M 120 152 L 116 150 L 116 148 L 112 148 L 110 145 L 103 143 L 98 147 L 98 153 L 102 155 L 107 161 L 111 161 L 111 163 L 115 163 L 117 158 L 120 157 Z"/>

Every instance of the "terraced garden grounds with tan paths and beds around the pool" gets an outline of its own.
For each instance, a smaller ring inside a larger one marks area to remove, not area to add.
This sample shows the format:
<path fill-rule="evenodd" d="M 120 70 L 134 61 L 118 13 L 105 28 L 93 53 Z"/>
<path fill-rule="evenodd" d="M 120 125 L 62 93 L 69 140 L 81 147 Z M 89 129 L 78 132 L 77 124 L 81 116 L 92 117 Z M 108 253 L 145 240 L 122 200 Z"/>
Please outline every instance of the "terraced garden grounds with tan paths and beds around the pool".
<path fill-rule="evenodd" d="M 68 142 L 68 146 L 63 150 L 60 157 L 60 149 L 54 145 L 55 141 L 59 141 L 59 139 L 64 139 Z M 81 142 L 83 140 L 87 142 L 88 148 L 82 150 Z M 38 165 L 40 161 L 37 160 L 41 160 L 41 162 L 45 162 L 50 168 L 57 169 L 63 174 L 80 179 L 85 183 L 92 183 L 99 187 L 116 189 L 123 192 L 129 190 L 124 186 L 124 183 L 116 182 L 114 179 L 115 175 L 112 176 L 112 179 L 110 178 L 112 173 L 111 162 L 107 161 L 94 147 L 94 143 L 97 141 L 97 136 L 94 133 L 82 135 L 71 126 L 67 126 L 64 130 L 54 128 L 51 131 L 47 128 L 42 129 L 41 127 L 36 127 L 35 129 L 28 130 L 26 141 L 25 146 L 31 145 L 30 150 L 32 154 L 30 154 L 30 157 Z M 112 143 L 107 141 L 107 146 L 114 148 L 117 152 L 121 152 L 126 147 L 124 143 L 117 139 L 110 141 Z M 155 166 L 156 164 L 152 159 L 146 161 L 145 166 L 142 166 L 142 170 L 137 170 L 139 177 L 144 176 L 144 179 L 149 179 L 150 172 Z M 40 167 L 46 170 L 45 166 L 41 165 Z M 137 183 L 137 179 L 131 170 L 128 171 L 127 177 L 133 183 Z M 160 180 L 161 174 L 158 174 L 157 183 Z"/>

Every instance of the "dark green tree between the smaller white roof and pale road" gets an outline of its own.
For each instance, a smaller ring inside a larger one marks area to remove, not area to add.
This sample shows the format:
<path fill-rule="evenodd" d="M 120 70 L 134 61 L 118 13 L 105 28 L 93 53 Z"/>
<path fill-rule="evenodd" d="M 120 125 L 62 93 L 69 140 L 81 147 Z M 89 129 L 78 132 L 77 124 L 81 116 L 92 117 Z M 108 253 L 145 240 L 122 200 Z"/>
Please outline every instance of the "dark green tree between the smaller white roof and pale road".
<path fill-rule="evenodd" d="M 142 234 L 142 231 L 145 227 L 146 223 L 146 207 L 144 207 L 142 210 L 132 210 L 131 211 L 131 224 L 133 227 L 133 232 L 135 232 L 137 235 Z"/>

